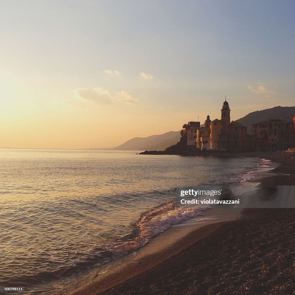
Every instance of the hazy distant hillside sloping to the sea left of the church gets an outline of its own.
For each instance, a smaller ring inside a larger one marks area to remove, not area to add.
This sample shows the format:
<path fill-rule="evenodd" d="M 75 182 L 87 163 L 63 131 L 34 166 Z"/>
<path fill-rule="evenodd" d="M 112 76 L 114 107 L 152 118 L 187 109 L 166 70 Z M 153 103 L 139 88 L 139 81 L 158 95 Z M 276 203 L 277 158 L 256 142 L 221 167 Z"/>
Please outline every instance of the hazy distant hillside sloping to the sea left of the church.
<path fill-rule="evenodd" d="M 134 137 L 112 150 L 165 150 L 168 146 L 176 144 L 180 137 L 180 130 L 148 137 Z"/>

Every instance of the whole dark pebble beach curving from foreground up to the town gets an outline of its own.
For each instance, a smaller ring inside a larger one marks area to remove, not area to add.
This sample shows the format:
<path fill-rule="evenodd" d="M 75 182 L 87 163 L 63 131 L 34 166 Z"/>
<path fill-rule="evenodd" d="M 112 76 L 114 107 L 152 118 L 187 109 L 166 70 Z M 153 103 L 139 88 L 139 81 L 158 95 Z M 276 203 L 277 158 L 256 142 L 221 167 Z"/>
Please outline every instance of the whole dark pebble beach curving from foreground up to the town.
<path fill-rule="evenodd" d="M 295 165 L 285 159 L 287 153 L 231 156 L 280 163 L 260 177 L 263 185 L 295 183 Z M 295 209 L 240 213 L 172 227 L 132 259 L 125 258 L 125 264 L 71 294 L 295 294 Z"/>

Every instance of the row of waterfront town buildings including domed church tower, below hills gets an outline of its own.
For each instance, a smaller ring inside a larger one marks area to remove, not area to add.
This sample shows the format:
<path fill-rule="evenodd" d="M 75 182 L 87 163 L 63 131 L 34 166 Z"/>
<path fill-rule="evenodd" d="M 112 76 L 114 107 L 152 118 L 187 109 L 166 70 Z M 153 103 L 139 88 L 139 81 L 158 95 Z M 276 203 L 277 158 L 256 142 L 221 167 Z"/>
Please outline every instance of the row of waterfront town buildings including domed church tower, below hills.
<path fill-rule="evenodd" d="M 183 124 L 179 144 L 195 147 L 196 150 L 226 152 L 285 151 L 295 148 L 295 116 L 293 122 L 286 122 L 281 118 L 253 122 L 251 130 L 248 130 L 248 127 L 230 121 L 230 111 L 225 98 L 221 119 L 211 121 L 208 114 L 204 124 L 196 121 Z"/>

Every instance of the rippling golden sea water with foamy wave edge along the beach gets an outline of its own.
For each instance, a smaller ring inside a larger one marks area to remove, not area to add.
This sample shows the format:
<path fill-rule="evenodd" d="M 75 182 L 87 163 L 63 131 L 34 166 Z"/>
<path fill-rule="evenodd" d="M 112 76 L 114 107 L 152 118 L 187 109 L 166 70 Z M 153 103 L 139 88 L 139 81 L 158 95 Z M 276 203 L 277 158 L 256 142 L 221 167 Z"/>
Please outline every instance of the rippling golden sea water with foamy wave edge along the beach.
<path fill-rule="evenodd" d="M 55 294 L 65 282 L 144 246 L 204 209 L 177 208 L 181 185 L 237 183 L 256 158 L 134 151 L 0 149 L 0 286 Z"/>

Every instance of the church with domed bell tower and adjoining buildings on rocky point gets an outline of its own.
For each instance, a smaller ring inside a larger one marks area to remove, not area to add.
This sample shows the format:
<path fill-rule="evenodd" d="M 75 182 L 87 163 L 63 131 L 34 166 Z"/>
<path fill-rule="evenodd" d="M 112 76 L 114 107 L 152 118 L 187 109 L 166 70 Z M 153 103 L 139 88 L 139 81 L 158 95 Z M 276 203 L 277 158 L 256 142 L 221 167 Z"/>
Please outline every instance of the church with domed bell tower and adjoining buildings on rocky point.
<path fill-rule="evenodd" d="M 208 115 L 203 125 L 200 125 L 200 122 L 188 122 L 185 125 L 181 136 L 187 138 L 187 145 L 196 145 L 200 150 L 253 150 L 252 135 L 247 134 L 248 128 L 238 122 L 230 122 L 230 106 L 226 98 L 222 104 L 221 119 L 211 121 Z"/>

